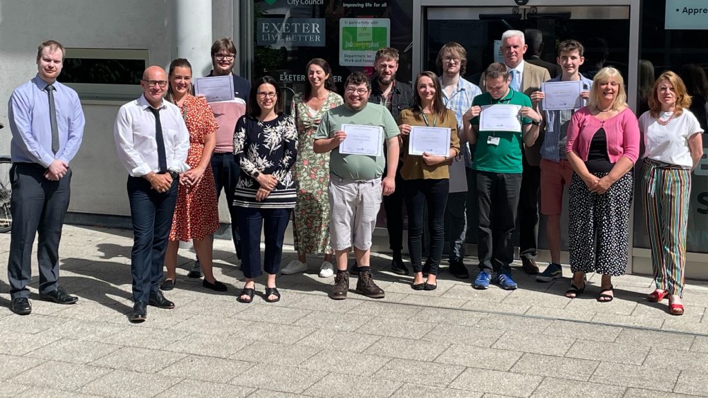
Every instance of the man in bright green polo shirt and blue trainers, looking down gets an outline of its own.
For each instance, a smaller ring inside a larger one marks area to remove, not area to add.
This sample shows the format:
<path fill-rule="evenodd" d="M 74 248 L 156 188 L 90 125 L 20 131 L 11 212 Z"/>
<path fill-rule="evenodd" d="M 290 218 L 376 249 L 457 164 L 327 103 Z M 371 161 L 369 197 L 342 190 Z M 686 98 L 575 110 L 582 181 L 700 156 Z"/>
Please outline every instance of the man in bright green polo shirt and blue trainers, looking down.
<path fill-rule="evenodd" d="M 486 93 L 474 97 L 472 108 L 462 117 L 469 143 L 476 143 L 474 168 L 477 171 L 480 271 L 473 286 L 489 288 L 492 274 L 496 272 L 496 283 L 503 289 L 514 290 L 517 285 L 511 278 L 510 264 L 514 260 L 511 235 L 523 173 L 521 152 L 523 145 L 530 147 L 536 142 L 542 117 L 532 108 L 528 96 L 510 88 L 511 75 L 504 64 L 489 65 L 484 76 Z M 518 108 L 515 116 L 520 119 L 518 131 L 481 131 L 480 113 L 499 105 Z"/>

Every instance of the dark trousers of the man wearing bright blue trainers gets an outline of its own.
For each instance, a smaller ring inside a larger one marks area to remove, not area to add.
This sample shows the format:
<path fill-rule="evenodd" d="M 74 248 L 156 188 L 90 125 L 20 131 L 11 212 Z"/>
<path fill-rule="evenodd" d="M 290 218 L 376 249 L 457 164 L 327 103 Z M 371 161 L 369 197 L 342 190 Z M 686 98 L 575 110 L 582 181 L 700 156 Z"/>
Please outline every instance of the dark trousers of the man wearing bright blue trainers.
<path fill-rule="evenodd" d="M 516 209 L 521 189 L 521 174 L 477 171 L 477 255 L 479 268 L 486 273 L 511 274 L 516 226 Z"/>

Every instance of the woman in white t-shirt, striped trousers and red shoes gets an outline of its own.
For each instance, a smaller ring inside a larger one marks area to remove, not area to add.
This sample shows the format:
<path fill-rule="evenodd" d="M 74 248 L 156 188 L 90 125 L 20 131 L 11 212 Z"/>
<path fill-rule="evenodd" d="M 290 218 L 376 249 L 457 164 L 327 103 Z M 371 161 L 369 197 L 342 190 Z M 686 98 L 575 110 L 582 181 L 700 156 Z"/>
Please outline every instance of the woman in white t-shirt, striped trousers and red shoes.
<path fill-rule="evenodd" d="M 654 83 L 649 110 L 639 118 L 644 140 L 641 191 L 656 282 L 646 300 L 660 302 L 668 296 L 672 315 L 683 314 L 691 171 L 703 156 L 703 130 L 690 105 L 681 78 L 664 72 Z"/>

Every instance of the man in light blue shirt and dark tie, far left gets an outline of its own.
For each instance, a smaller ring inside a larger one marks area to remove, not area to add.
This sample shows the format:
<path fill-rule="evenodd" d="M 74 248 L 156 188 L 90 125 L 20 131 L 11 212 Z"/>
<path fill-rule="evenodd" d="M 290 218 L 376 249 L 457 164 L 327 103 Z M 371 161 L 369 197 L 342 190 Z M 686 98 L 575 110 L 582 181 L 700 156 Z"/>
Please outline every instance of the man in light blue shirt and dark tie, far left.
<path fill-rule="evenodd" d="M 8 103 L 12 131 L 10 169 L 13 218 L 8 279 L 10 308 L 16 314 L 32 312 L 27 288 L 35 234 L 40 298 L 74 304 L 59 280 L 59 239 L 69 208 L 69 183 L 74 159 L 84 136 L 84 111 L 76 91 L 57 82 L 64 47 L 47 40 L 38 47 L 38 73 L 13 91 Z"/>

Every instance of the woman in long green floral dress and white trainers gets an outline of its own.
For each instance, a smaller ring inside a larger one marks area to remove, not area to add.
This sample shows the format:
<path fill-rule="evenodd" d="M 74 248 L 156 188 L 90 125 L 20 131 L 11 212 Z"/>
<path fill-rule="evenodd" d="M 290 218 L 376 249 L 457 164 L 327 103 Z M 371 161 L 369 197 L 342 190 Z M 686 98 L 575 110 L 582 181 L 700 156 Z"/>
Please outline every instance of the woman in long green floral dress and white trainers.
<path fill-rule="evenodd" d="M 329 153 L 312 150 L 314 134 L 327 110 L 340 106 L 342 97 L 334 91 L 334 79 L 329 64 L 314 58 L 307 64 L 309 84 L 305 92 L 295 96 L 292 109 L 297 125 L 297 161 L 295 179 L 299 181 L 295 205 L 295 250 L 292 260 L 280 271 L 283 275 L 307 271 L 307 254 L 324 253 L 319 276 L 329 278 L 334 273 L 329 246 Z"/>

